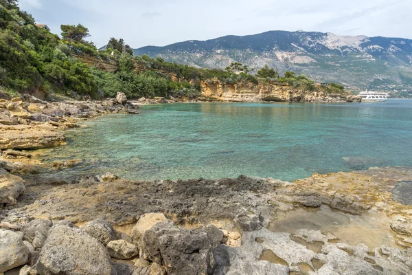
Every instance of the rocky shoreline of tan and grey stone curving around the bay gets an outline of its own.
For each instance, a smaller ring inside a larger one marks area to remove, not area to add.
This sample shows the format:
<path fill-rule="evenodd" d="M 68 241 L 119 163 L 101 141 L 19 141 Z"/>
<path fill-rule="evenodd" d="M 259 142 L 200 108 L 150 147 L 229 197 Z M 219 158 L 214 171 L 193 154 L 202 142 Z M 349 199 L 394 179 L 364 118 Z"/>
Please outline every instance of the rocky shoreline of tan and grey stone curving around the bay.
<path fill-rule="evenodd" d="M 393 199 L 411 168 L 67 183 L 25 149 L 64 144 L 59 130 L 135 104 L 27 96 L 0 111 L 0 274 L 412 274 L 412 206 Z"/>

